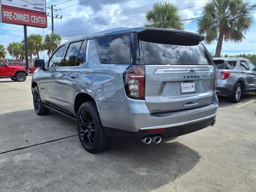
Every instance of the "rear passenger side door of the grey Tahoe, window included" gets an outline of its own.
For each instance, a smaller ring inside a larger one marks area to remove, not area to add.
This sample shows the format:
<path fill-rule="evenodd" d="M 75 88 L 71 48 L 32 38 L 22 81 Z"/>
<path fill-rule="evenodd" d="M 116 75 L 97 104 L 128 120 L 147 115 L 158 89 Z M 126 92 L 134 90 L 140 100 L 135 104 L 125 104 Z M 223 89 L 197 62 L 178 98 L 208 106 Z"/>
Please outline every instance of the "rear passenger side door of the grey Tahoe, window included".
<path fill-rule="evenodd" d="M 62 67 L 56 69 L 56 100 L 58 107 L 73 112 L 73 98 L 82 64 L 85 63 L 86 40 L 72 42 Z"/>

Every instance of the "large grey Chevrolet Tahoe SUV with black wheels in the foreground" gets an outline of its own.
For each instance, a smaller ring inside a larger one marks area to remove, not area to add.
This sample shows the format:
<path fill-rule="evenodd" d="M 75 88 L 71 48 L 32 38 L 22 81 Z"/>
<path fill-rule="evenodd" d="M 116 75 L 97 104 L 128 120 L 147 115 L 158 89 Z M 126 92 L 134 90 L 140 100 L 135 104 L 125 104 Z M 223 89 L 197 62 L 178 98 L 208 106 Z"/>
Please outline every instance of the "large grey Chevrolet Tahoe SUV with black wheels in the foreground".
<path fill-rule="evenodd" d="M 77 120 L 89 152 L 111 138 L 160 143 L 215 124 L 217 70 L 204 36 L 162 28 L 116 28 L 60 45 L 36 60 L 36 114 Z"/>

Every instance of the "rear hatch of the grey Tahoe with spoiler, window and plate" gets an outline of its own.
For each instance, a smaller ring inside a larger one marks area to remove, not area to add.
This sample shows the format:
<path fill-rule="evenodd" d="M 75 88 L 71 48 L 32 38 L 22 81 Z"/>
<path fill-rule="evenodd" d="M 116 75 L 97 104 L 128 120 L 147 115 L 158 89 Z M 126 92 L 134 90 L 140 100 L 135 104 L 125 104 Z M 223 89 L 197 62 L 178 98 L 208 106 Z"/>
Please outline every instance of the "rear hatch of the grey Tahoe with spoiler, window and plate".
<path fill-rule="evenodd" d="M 150 113 L 206 106 L 214 97 L 215 69 L 198 34 L 178 30 L 138 33 L 144 55 L 145 100 Z"/>

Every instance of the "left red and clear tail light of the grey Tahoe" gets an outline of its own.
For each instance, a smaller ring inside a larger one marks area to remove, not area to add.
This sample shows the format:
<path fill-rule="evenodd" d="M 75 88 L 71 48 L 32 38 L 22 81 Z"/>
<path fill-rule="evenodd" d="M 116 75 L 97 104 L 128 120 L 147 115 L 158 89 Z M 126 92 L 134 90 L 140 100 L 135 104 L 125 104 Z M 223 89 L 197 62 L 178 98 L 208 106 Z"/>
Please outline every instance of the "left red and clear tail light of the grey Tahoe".
<path fill-rule="evenodd" d="M 130 65 L 124 71 L 124 89 L 133 99 L 145 98 L 145 68 L 142 65 Z"/>

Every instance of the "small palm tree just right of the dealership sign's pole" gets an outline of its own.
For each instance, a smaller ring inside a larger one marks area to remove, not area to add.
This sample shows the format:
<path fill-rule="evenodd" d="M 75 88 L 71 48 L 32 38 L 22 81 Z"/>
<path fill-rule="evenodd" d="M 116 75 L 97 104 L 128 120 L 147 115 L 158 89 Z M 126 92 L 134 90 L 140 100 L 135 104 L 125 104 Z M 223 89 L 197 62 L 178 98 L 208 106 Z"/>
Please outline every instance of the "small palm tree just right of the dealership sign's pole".
<path fill-rule="evenodd" d="M 28 36 L 28 49 L 39 58 L 39 52 L 44 50 L 43 36 L 40 34 L 30 34 Z"/>

